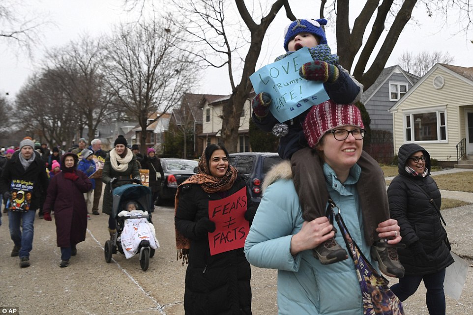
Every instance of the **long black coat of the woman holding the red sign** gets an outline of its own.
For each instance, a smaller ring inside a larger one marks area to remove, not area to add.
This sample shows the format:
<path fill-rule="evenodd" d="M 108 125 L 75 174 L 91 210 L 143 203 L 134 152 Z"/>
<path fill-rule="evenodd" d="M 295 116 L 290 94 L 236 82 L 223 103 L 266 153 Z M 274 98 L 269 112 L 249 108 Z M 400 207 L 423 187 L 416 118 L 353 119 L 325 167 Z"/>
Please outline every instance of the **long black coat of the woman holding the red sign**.
<path fill-rule="evenodd" d="M 238 177 L 227 196 L 246 187 Z M 255 211 L 247 191 L 247 209 Z M 206 193 L 200 185 L 181 188 L 176 211 L 176 228 L 190 239 L 189 265 L 185 275 L 186 315 L 251 315 L 251 268 L 243 248 L 210 256 L 207 232 L 195 233 L 196 222 L 208 218 L 208 201 L 222 199 Z"/>

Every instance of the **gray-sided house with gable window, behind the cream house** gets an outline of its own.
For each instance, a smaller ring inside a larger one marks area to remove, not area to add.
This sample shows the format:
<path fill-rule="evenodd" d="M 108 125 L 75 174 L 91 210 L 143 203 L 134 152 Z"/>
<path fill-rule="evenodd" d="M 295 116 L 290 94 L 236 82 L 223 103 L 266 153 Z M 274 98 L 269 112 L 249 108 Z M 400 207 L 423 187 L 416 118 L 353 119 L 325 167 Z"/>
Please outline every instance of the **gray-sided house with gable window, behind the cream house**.
<path fill-rule="evenodd" d="M 392 134 L 392 114 L 389 109 L 419 81 L 419 77 L 399 65 L 385 68 L 375 83 L 361 96 L 371 118 L 371 130 L 386 130 Z"/>

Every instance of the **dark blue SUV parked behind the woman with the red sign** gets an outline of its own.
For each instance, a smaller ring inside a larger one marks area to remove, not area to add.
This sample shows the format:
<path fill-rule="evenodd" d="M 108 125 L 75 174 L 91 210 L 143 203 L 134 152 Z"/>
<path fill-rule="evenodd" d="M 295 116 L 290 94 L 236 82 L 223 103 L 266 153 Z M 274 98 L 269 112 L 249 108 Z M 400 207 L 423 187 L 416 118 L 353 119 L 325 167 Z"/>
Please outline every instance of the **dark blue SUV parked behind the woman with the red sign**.
<path fill-rule="evenodd" d="M 258 206 L 266 173 L 282 159 L 277 153 L 271 152 L 230 153 L 229 156 L 230 164 L 246 175 L 246 186 L 250 189 L 251 200 Z"/>

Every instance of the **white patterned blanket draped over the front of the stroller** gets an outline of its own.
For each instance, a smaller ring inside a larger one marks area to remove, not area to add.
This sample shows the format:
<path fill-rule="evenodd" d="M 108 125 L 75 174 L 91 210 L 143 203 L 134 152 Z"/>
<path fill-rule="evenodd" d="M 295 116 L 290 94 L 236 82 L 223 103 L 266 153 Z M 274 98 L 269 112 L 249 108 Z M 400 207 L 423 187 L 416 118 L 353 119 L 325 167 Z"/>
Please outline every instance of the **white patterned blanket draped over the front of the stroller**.
<path fill-rule="evenodd" d="M 137 214 L 148 215 L 148 211 L 143 212 L 142 210 L 123 210 L 118 213 L 118 216 L 129 217 Z M 156 231 L 154 226 L 148 222 L 146 218 L 125 220 L 123 231 L 120 235 L 120 241 L 121 247 L 123 248 L 123 253 L 127 259 L 136 255 L 140 242 L 143 240 L 148 240 L 149 246 L 152 249 L 159 248 L 159 242 L 156 239 Z"/>

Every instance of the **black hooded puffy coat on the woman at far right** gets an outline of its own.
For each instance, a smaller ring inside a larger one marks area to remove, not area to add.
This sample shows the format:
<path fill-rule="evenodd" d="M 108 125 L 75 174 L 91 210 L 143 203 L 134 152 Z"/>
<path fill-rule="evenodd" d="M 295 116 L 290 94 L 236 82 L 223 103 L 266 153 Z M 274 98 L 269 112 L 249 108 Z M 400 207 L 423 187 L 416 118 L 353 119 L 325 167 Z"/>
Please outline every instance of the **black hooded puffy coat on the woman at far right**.
<path fill-rule="evenodd" d="M 405 170 L 407 159 L 418 151 L 423 152 L 425 167 L 429 170 L 425 177 L 413 176 Z M 452 264 L 453 258 L 443 241 L 446 231 L 437 210 L 421 190 L 422 188 L 426 191 L 440 209 L 442 197 L 437 184 L 430 176 L 430 155 L 420 145 L 408 143 L 399 148 L 398 158 L 399 175 L 392 180 L 387 195 L 391 218 L 398 221 L 401 227 L 401 243 L 407 245 L 405 249 L 398 249 L 399 259 L 406 275 L 438 272 Z M 427 257 L 419 255 L 413 249 L 417 241 Z"/>

